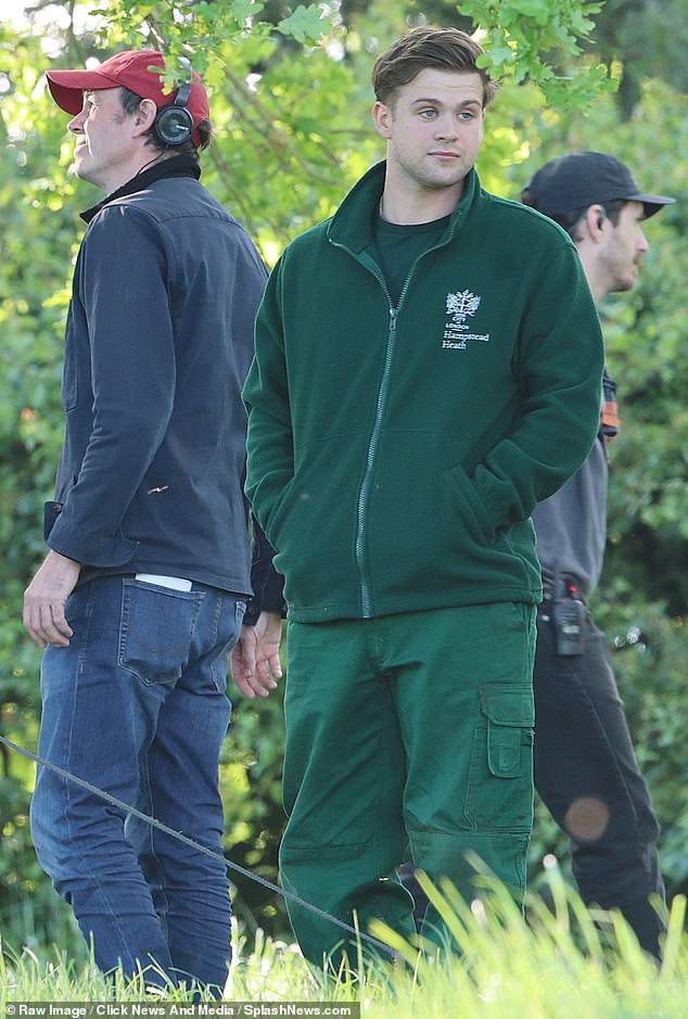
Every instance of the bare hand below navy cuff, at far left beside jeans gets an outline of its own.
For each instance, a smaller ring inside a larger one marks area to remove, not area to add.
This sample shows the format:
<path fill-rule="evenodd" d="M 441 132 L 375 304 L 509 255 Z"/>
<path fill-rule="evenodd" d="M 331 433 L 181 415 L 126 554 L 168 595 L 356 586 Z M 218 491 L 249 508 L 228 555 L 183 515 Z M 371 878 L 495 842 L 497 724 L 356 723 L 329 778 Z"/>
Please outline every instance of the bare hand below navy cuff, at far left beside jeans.
<path fill-rule="evenodd" d="M 66 648 L 74 630 L 64 607 L 76 587 L 81 564 L 52 548 L 24 591 L 24 625 L 40 648 L 54 644 Z"/>

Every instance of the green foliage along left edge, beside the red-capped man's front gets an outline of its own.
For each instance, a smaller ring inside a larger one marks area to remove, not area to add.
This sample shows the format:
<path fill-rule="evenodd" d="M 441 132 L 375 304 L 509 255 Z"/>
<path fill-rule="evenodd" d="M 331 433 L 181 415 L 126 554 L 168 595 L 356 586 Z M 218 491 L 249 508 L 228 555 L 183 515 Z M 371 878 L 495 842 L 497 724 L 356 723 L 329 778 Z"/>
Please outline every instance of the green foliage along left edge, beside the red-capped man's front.
<path fill-rule="evenodd" d="M 0 731 L 35 747 L 40 655 L 22 633 L 22 593 L 43 551 L 41 504 L 62 435 L 60 360 L 65 284 L 75 241 L 75 187 L 55 154 L 62 125 L 46 116 L 38 39 L 0 28 L 10 69 L 0 103 Z M 38 143 L 40 139 L 40 143 Z M 3 748 L 0 775 L 0 926 L 29 944 L 65 937 L 66 910 L 37 865 L 28 833 L 33 768 Z M 68 943 L 68 938 L 65 938 Z"/>

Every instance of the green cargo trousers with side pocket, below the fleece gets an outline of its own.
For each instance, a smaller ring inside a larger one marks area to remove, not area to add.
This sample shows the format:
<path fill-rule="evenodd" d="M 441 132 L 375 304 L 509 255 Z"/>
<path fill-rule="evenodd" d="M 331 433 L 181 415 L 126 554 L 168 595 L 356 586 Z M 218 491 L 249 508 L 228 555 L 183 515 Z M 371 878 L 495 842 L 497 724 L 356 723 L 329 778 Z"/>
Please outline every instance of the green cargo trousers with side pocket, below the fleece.
<path fill-rule="evenodd" d="M 535 609 L 504 603 L 290 623 L 285 889 L 359 930 L 405 935 L 408 858 L 475 897 L 472 851 L 522 893 L 533 823 Z M 288 903 L 318 967 L 356 965 L 353 938 Z M 439 940 L 431 907 L 423 933 Z M 365 947 L 365 946 L 364 946 Z"/>

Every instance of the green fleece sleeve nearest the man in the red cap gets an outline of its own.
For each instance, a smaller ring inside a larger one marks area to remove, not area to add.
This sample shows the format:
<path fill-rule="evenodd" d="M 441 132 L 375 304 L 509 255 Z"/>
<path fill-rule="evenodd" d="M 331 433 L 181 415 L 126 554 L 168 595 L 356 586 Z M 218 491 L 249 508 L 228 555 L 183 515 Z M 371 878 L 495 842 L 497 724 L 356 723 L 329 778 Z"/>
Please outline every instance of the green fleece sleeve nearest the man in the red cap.
<path fill-rule="evenodd" d="M 255 357 L 244 384 L 249 412 L 246 495 L 271 540 L 271 522 L 294 476 L 294 443 L 281 311 L 283 259 L 272 270 L 256 319 Z M 275 544 L 272 542 L 272 544 Z"/>

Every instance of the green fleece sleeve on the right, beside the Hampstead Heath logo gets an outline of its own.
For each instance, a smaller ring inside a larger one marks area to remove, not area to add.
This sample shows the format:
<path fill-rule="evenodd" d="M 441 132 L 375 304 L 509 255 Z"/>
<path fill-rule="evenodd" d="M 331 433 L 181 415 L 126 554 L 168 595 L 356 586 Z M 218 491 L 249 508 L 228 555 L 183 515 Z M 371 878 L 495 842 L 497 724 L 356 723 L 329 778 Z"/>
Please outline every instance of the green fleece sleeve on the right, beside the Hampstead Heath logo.
<path fill-rule="evenodd" d="M 513 364 L 519 409 L 472 476 L 495 528 L 527 518 L 557 492 L 588 456 L 599 428 L 604 354 L 597 308 L 569 240 L 548 255 L 521 321 Z"/>

